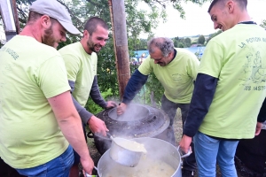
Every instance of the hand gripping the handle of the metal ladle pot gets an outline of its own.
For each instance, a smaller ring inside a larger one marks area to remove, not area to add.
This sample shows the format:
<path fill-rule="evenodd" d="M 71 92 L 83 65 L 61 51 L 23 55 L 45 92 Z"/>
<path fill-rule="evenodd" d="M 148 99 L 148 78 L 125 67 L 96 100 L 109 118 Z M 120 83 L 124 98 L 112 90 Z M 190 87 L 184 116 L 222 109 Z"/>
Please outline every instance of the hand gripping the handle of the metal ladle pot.
<path fill-rule="evenodd" d="M 100 133 L 104 136 L 106 136 L 106 131 L 108 132 L 109 130 L 106 127 L 106 124 L 103 120 L 98 119 L 95 116 L 91 116 L 91 118 L 88 121 L 90 131 L 95 134 L 95 133 Z"/>

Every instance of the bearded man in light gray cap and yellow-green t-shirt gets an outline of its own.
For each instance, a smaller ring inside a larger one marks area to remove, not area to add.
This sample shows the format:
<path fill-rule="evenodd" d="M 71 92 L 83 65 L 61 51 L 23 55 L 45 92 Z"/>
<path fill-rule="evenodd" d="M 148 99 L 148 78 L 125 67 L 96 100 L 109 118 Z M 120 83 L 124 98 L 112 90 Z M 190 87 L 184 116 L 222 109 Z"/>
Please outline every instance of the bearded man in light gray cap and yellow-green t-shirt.
<path fill-rule="evenodd" d="M 73 148 L 85 172 L 94 166 L 55 49 L 66 31 L 80 34 L 66 7 L 37 0 L 26 27 L 0 50 L 0 156 L 26 176 L 68 176 Z"/>

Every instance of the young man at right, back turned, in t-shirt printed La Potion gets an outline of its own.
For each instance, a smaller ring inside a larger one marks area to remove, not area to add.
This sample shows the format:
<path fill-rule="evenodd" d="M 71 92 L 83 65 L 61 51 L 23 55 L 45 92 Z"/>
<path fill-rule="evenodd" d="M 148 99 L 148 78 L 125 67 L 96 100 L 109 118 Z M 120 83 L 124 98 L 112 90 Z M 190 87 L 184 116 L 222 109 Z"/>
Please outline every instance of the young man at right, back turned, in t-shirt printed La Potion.
<path fill-rule="evenodd" d="M 266 33 L 246 12 L 246 0 L 214 0 L 208 9 L 223 30 L 207 44 L 180 146 L 192 137 L 200 176 L 237 176 L 239 139 L 259 135 L 265 112 Z M 258 116 L 259 114 L 259 116 Z"/>

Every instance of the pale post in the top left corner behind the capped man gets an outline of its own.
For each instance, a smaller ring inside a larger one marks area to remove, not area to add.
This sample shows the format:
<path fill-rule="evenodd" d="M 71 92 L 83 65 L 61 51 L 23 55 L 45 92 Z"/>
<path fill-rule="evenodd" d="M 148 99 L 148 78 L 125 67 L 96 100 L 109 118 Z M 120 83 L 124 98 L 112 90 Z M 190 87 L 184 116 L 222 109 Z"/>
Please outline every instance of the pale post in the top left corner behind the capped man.
<path fill-rule="evenodd" d="M 11 40 L 13 36 L 17 35 L 20 32 L 20 29 L 18 29 L 17 31 L 14 19 L 14 12 L 17 12 L 17 9 L 15 8 L 15 11 L 13 10 L 13 7 L 15 6 L 13 2 L 14 1 L 11 2 L 10 0 L 0 1 L 0 12 L 4 21 L 4 33 L 6 37 L 6 42 Z"/>

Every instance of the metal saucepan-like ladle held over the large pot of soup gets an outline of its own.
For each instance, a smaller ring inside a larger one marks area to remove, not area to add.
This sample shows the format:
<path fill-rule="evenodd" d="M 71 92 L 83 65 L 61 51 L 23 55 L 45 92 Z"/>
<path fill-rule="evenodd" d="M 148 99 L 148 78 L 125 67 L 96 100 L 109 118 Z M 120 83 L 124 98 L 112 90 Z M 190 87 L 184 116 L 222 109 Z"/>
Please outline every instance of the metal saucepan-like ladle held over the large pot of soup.
<path fill-rule="evenodd" d="M 142 148 L 144 148 L 143 145 L 124 138 L 113 138 L 113 136 L 109 133 L 107 133 L 107 135 L 109 135 L 112 140 L 111 148 L 109 151 L 110 158 L 121 165 L 129 167 L 136 166 L 145 150 L 132 150 L 128 146 L 124 146 L 124 144 L 129 144 L 129 146 L 132 145 L 134 147 L 140 145 L 142 146 Z"/>

